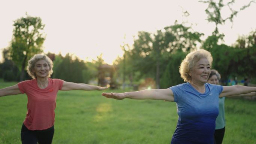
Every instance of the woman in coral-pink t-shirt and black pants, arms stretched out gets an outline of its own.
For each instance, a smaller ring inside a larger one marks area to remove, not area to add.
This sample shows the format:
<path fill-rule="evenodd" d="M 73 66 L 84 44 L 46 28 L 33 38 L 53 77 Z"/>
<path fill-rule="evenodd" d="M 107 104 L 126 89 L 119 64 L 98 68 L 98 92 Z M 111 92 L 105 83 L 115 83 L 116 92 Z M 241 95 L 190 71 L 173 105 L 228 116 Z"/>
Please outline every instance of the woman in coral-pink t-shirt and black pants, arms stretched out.
<path fill-rule="evenodd" d="M 21 128 L 22 144 L 51 144 L 54 136 L 56 98 L 59 90 L 104 90 L 107 87 L 51 79 L 52 60 L 42 54 L 28 61 L 27 72 L 33 80 L 0 89 L 0 96 L 26 94 L 27 116 Z"/>

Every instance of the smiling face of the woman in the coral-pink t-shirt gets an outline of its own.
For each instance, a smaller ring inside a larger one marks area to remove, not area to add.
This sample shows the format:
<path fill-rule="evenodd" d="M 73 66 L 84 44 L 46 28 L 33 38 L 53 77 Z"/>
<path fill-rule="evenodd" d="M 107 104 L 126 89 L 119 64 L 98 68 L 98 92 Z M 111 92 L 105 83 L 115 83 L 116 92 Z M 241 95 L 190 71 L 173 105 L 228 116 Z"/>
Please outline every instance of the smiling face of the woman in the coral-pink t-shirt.
<path fill-rule="evenodd" d="M 45 78 L 48 77 L 49 74 L 49 66 L 45 60 L 39 60 L 36 62 L 33 72 L 36 74 L 37 78 Z"/>

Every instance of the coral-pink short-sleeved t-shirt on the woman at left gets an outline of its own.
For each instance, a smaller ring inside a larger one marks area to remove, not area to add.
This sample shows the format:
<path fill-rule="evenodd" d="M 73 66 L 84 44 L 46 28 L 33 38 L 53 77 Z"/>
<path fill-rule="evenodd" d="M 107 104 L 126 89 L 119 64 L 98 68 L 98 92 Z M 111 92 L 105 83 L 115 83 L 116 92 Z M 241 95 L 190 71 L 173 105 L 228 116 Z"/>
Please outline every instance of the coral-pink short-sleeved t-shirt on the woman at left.
<path fill-rule="evenodd" d="M 38 87 L 36 79 L 18 83 L 21 93 L 28 96 L 28 111 L 23 123 L 29 130 L 44 130 L 54 125 L 57 93 L 63 82 L 60 79 L 48 78 L 45 89 Z"/>

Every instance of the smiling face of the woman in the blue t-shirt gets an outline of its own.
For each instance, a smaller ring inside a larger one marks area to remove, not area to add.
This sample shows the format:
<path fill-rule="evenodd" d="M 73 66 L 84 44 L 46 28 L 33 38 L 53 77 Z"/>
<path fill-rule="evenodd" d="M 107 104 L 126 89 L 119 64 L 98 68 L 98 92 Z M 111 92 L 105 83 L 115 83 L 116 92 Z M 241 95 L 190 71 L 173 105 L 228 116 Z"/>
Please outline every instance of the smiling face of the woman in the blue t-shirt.
<path fill-rule="evenodd" d="M 191 82 L 197 84 L 204 84 L 211 73 L 210 64 L 206 58 L 201 58 L 189 71 Z"/>

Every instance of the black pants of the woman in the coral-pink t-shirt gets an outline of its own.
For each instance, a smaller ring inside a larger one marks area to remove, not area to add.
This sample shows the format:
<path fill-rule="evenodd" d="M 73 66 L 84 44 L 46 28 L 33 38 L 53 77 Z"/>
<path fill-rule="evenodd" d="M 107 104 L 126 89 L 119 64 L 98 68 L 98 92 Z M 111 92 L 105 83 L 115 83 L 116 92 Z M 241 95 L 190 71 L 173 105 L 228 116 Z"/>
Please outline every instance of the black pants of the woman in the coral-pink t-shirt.
<path fill-rule="evenodd" d="M 54 135 L 54 126 L 51 128 L 39 131 L 31 131 L 23 124 L 21 128 L 22 144 L 51 144 Z"/>

